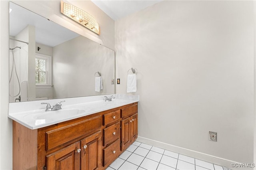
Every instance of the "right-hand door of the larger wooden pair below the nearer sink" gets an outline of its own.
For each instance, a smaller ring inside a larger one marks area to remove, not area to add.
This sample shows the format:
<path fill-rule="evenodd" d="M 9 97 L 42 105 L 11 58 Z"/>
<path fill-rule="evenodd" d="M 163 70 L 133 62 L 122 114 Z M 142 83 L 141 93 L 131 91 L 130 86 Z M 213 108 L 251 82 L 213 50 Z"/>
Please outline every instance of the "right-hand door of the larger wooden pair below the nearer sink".
<path fill-rule="evenodd" d="M 102 134 L 98 131 L 81 140 L 81 170 L 97 170 L 101 166 Z"/>

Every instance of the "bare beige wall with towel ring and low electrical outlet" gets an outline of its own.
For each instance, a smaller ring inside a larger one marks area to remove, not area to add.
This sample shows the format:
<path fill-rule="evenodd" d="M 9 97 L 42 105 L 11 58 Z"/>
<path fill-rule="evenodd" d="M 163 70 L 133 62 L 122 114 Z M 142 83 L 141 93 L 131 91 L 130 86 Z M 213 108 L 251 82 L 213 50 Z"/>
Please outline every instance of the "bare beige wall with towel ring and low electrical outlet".
<path fill-rule="evenodd" d="M 138 69 L 139 136 L 253 162 L 253 1 L 160 2 L 115 22 L 115 51 L 116 93 Z"/>

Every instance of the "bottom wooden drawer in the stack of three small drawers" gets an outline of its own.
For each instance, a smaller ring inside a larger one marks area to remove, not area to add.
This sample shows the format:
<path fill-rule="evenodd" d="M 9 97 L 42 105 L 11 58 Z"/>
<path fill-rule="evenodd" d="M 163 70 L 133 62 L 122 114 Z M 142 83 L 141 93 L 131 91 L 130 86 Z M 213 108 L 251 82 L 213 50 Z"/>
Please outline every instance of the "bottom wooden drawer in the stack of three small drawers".
<path fill-rule="evenodd" d="M 103 149 L 103 166 L 114 161 L 120 154 L 120 139 Z"/>

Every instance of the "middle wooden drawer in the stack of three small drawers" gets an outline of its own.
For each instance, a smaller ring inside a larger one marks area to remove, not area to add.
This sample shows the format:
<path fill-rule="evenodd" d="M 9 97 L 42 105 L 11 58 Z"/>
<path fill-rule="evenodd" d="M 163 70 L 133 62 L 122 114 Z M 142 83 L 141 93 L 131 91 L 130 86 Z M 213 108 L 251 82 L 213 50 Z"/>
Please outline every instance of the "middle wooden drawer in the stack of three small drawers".
<path fill-rule="evenodd" d="M 120 122 L 103 129 L 103 145 L 114 142 L 120 137 Z"/>

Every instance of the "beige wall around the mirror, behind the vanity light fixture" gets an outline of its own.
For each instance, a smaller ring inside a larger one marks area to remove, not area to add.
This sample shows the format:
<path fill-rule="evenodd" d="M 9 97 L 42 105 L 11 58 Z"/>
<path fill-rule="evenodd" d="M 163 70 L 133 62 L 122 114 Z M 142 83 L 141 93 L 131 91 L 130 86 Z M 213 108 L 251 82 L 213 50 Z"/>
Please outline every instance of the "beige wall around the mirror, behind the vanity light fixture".
<path fill-rule="evenodd" d="M 101 34 L 91 32 L 60 13 L 60 1 L 13 1 L 45 18 L 49 18 L 78 34 L 114 49 L 114 21 L 90 1 L 66 1 L 96 18 Z M 0 0 L 0 169 L 12 169 L 12 121 L 8 119 L 9 2 Z"/>

